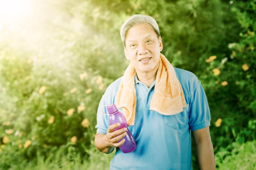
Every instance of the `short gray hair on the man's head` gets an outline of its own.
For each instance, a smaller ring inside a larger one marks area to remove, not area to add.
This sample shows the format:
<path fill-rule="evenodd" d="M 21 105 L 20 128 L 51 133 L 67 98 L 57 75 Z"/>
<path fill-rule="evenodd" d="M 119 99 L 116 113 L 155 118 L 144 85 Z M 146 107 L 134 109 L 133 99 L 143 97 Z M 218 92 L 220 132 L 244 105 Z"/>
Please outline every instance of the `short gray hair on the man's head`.
<path fill-rule="evenodd" d="M 158 24 L 153 17 L 148 15 L 138 15 L 138 14 L 132 15 L 128 20 L 124 22 L 124 24 L 121 26 L 121 29 L 120 29 L 121 40 L 123 42 L 124 47 L 126 47 L 125 39 L 126 39 L 128 30 L 133 26 L 140 25 L 140 24 L 150 24 L 154 29 L 157 35 L 157 38 L 161 36 Z"/>

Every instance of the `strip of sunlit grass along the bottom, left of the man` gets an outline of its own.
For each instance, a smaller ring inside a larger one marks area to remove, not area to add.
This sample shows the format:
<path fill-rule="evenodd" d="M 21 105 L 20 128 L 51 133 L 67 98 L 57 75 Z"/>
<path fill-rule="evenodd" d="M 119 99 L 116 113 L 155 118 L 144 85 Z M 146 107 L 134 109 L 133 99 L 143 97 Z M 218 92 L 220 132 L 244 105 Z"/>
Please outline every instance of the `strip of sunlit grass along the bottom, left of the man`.
<path fill-rule="evenodd" d="M 13 159 L 11 158 L 13 155 L 0 153 L 0 170 L 109 170 L 109 164 L 114 153 L 99 152 L 95 146 L 92 146 L 88 152 L 90 152 L 88 160 L 83 159 L 78 154 L 70 159 L 60 149 L 54 153 L 49 153 L 47 158 L 37 154 L 31 161 L 22 160 L 22 157 Z M 3 157 L 4 159 L 2 159 Z M 8 157 L 11 159 L 10 161 L 7 161 Z"/>

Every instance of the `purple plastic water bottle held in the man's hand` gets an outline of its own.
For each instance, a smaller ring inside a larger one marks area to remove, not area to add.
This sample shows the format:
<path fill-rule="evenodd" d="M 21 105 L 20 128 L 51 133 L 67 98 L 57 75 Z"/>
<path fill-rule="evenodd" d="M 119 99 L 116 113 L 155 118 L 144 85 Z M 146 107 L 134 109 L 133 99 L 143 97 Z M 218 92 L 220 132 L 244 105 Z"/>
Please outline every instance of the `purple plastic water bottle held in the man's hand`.
<path fill-rule="evenodd" d="M 123 113 L 118 111 L 117 106 L 115 104 L 108 105 L 107 110 L 108 110 L 108 113 L 109 113 L 109 124 L 110 125 L 115 124 L 115 123 L 120 123 L 121 124 L 121 126 L 116 128 L 115 130 L 118 130 L 118 129 L 121 129 L 121 128 L 124 128 L 124 127 L 127 128 L 127 131 L 126 131 L 127 135 L 122 138 L 122 139 L 125 139 L 125 142 L 119 148 L 124 153 L 130 153 L 130 152 L 134 151 L 136 149 L 135 139 L 134 139 L 132 133 L 130 132 L 130 130 L 128 129 L 128 127 L 127 127 L 126 118 L 124 117 Z"/>

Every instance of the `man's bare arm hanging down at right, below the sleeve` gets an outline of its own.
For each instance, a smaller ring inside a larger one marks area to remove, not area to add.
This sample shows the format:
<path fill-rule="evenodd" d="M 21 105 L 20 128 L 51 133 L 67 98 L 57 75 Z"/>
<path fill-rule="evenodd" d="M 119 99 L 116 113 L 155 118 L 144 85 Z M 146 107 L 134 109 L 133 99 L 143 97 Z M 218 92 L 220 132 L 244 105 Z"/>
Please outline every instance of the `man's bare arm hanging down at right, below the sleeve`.
<path fill-rule="evenodd" d="M 216 170 L 209 126 L 192 131 L 200 170 Z"/>

